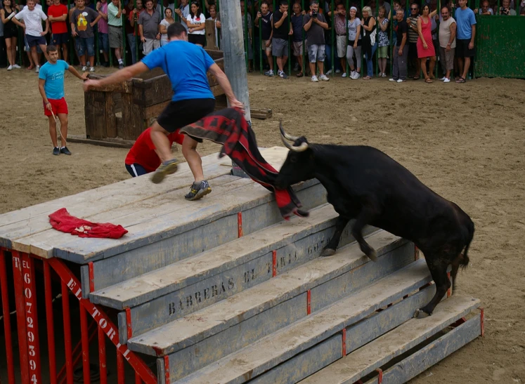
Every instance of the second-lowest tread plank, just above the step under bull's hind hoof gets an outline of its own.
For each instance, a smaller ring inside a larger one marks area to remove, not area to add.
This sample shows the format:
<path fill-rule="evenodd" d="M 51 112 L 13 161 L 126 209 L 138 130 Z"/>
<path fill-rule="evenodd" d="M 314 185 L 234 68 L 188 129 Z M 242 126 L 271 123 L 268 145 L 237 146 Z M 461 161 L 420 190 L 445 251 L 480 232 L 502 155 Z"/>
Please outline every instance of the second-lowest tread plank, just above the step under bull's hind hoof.
<path fill-rule="evenodd" d="M 180 380 L 180 384 L 242 383 L 245 375 L 251 374 L 252 377 L 256 377 L 268 371 L 335 335 L 344 327 L 364 319 L 378 308 L 401 299 L 429 280 L 424 260 L 417 260 L 403 270 L 368 286 L 367 289 L 339 300 L 325 310 L 312 313 L 299 322 L 192 373 Z M 176 370 L 176 362 L 173 364 Z"/>

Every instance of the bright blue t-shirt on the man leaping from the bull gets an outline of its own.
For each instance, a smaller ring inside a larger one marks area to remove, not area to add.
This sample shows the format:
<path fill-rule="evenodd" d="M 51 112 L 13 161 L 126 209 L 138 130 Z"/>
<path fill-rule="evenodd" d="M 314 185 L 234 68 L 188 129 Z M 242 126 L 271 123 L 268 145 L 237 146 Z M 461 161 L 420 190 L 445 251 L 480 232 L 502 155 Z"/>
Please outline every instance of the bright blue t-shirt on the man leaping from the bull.
<path fill-rule="evenodd" d="M 168 75 L 174 92 L 171 101 L 214 99 L 206 76 L 214 60 L 200 46 L 183 40 L 171 41 L 148 53 L 142 62 L 149 69 L 161 67 Z"/>

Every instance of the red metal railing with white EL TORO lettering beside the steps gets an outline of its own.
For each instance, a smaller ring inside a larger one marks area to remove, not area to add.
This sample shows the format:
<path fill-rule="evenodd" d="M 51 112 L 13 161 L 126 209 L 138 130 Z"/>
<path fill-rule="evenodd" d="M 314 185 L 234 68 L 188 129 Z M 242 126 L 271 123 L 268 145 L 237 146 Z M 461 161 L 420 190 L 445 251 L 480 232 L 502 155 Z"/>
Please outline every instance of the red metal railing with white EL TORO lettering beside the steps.
<path fill-rule="evenodd" d="M 8 250 L 0 248 L 0 293 L 6 338 L 6 360 L 8 384 L 15 384 L 15 356 L 11 338 L 11 313 L 9 307 L 8 273 L 6 258 Z M 48 372 L 51 384 L 73 384 L 74 366 L 82 359 L 82 373 L 85 384 L 91 383 L 91 364 L 89 343 L 98 336 L 98 365 L 100 383 L 108 383 L 106 366 L 106 338 L 109 338 L 117 350 L 117 383 L 124 383 L 124 362 L 128 362 L 135 371 L 135 383 L 157 383 L 155 374 L 127 345 L 119 343 L 117 327 L 105 311 L 82 298 L 79 280 L 73 272 L 58 258 L 42 259 L 38 256 L 18 251 L 11 252 L 13 265 L 13 289 L 15 292 L 16 327 L 18 329 L 18 347 L 20 349 L 20 380 L 22 384 L 42 383 L 41 354 L 39 339 L 39 317 L 37 311 L 37 286 L 35 263 L 43 265 L 44 303 L 46 309 L 46 333 L 48 347 Z M 52 273 L 58 275 L 61 285 L 65 364 L 57 373 L 55 324 L 53 319 Z M 79 300 L 80 342 L 72 347 L 70 293 Z M 93 319 L 89 324 L 89 316 Z M 2 364 L 0 364 L 2 365 Z M 47 380 L 46 380 L 47 381 Z"/>

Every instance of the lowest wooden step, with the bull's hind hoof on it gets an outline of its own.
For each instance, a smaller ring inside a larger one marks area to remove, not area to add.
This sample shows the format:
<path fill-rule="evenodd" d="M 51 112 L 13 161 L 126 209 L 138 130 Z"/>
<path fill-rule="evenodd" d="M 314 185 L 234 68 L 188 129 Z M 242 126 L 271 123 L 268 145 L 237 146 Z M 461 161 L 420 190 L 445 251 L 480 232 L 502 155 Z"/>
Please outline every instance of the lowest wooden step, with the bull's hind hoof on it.
<path fill-rule="evenodd" d="M 375 371 L 375 369 L 380 369 L 392 359 L 403 355 L 403 353 L 408 352 L 413 347 L 417 347 L 417 345 L 420 345 L 420 343 L 436 335 L 436 333 L 439 333 L 439 331 L 442 331 L 462 317 L 469 315 L 470 312 L 479 307 L 479 304 L 479 300 L 474 298 L 458 295 L 452 296 L 443 303 L 440 303 L 434 313 L 432 313 L 432 316 L 424 319 L 408 320 L 408 322 L 398 326 L 393 331 L 389 331 L 364 347 L 330 364 L 330 366 L 327 366 L 325 369 L 321 369 L 309 378 L 302 380 L 301 384 L 355 383 L 357 380 Z M 418 355 L 420 357 L 422 357 L 422 355 L 428 355 L 429 357 L 439 355 L 440 359 L 442 359 L 457 350 L 458 347 L 477 338 L 480 334 L 481 319 L 477 312 L 475 316 L 465 322 L 465 324 L 458 326 L 450 333 L 442 336 L 442 340 L 435 340 L 430 345 L 425 346 L 425 352 L 419 353 Z M 349 334 L 346 333 L 346 337 L 348 336 Z M 453 347 L 449 348 L 445 346 L 451 342 L 453 343 Z M 441 344 L 440 351 L 432 351 L 432 349 L 439 344 Z M 390 377 L 389 380 L 387 380 L 383 374 L 384 383 L 406 383 L 407 380 L 413 378 L 417 373 L 424 371 L 439 361 L 433 359 L 432 363 L 429 364 L 424 358 L 412 358 L 410 360 L 415 363 L 414 366 L 403 364 L 403 366 L 408 368 L 406 371 L 403 369 L 394 369 L 395 374 L 394 372 L 389 374 L 394 380 L 391 381 Z M 399 376 L 400 373 L 401 376 Z"/>

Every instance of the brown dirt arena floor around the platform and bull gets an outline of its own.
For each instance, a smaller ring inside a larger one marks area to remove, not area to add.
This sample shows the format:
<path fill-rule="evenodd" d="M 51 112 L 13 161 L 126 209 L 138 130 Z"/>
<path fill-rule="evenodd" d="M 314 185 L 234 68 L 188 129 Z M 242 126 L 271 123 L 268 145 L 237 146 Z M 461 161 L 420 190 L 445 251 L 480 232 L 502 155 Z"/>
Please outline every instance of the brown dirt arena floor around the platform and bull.
<path fill-rule="evenodd" d="M 71 157 L 52 156 L 37 75 L 2 69 L 1 79 L 0 213 L 129 178 L 127 150 L 71 143 Z M 314 143 L 375 146 L 474 220 L 458 292 L 482 300 L 486 336 L 412 383 L 525 383 L 525 81 L 312 84 L 253 74 L 249 91 L 252 107 L 273 110 L 253 122 L 259 145 L 280 145 L 283 119 Z M 70 133 L 85 133 L 84 93 L 69 74 L 66 98 Z"/>

